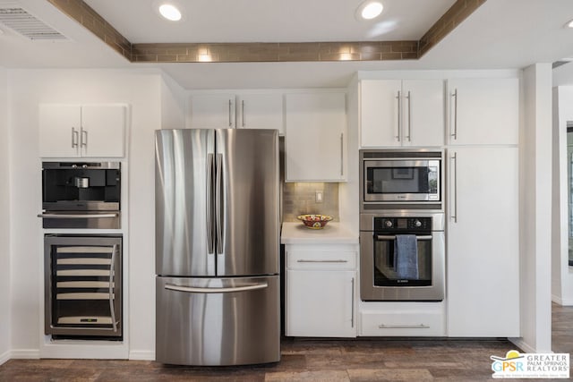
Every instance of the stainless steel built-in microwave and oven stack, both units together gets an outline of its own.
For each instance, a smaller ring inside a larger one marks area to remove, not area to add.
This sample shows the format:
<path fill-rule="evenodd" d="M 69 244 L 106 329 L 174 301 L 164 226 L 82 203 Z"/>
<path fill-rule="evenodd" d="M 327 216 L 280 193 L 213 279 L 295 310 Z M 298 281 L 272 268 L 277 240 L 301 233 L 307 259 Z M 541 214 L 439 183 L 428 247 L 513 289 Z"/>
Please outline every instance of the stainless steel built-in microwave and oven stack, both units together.
<path fill-rule="evenodd" d="M 360 151 L 360 296 L 442 301 L 443 150 Z"/>

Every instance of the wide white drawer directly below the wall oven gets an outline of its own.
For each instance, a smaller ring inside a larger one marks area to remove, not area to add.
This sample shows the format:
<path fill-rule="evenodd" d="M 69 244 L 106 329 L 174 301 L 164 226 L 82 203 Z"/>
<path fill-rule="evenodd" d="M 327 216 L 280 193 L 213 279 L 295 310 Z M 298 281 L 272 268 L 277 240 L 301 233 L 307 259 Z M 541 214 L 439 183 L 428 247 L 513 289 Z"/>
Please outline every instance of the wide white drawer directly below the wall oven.
<path fill-rule="evenodd" d="M 361 335 L 376 336 L 442 336 L 445 335 L 444 316 L 439 312 L 360 313 Z"/>

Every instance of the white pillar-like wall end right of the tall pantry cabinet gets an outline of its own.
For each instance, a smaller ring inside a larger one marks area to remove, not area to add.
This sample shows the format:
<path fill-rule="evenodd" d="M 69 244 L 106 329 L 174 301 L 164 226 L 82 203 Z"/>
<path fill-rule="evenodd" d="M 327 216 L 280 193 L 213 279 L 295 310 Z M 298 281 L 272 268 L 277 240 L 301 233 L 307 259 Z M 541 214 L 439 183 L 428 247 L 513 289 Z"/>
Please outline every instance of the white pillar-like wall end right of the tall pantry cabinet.
<path fill-rule="evenodd" d="M 551 352 L 552 67 L 524 70 L 520 147 L 521 338 L 526 352 Z"/>

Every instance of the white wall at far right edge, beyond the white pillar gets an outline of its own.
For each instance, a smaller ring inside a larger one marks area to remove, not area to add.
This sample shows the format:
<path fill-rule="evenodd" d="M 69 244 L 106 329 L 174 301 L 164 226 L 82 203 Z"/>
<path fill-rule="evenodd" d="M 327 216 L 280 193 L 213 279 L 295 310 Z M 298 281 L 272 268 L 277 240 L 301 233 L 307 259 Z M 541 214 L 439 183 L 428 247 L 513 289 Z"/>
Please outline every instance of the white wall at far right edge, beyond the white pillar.
<path fill-rule="evenodd" d="M 569 267 L 567 121 L 573 121 L 573 86 L 553 89 L 552 300 L 573 305 Z"/>

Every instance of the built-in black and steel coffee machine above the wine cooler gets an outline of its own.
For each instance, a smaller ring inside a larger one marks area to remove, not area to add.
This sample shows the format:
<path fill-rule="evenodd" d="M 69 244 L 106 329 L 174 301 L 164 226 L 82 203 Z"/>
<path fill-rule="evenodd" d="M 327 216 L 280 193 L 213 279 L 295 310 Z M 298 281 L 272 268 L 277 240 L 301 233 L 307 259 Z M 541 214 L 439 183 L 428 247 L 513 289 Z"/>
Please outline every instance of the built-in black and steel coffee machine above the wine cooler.
<path fill-rule="evenodd" d="M 119 162 L 43 162 L 44 228 L 120 228 Z"/>

